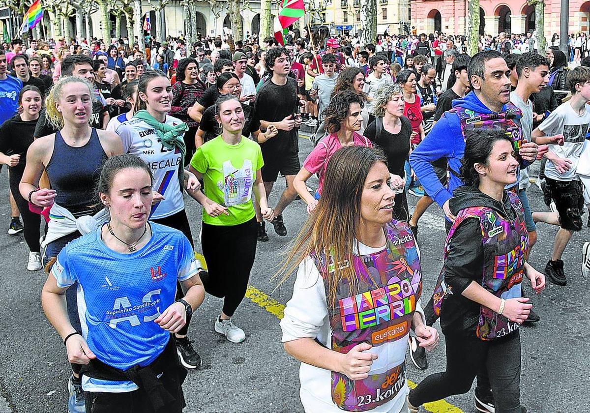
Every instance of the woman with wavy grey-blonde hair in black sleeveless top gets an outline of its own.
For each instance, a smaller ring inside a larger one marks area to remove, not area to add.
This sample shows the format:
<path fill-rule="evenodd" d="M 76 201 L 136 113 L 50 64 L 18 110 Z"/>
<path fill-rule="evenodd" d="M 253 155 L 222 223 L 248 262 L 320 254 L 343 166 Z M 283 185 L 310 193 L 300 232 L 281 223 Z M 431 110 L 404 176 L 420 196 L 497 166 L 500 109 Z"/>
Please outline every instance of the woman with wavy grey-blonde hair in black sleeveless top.
<path fill-rule="evenodd" d="M 365 136 L 371 142 L 380 146 L 387 157 L 389 173 L 393 176 L 404 176 L 404 165 L 408 162 L 412 152 L 410 136 L 412 124 L 404 116 L 404 95 L 398 84 L 390 83 L 381 86 L 375 94 L 375 121 L 365 130 Z M 392 182 L 394 179 L 392 179 Z M 404 181 L 393 182 L 401 188 L 401 193 L 395 195 L 394 218 L 408 222 L 408 200 L 404 188 Z"/>

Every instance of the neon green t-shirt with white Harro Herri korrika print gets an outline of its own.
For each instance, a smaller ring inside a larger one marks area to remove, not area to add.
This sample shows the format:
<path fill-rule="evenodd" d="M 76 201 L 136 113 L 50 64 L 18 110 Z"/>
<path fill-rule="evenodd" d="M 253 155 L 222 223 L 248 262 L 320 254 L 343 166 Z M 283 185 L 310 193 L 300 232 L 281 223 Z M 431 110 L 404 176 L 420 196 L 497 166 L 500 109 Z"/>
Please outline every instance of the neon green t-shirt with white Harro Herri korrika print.
<path fill-rule="evenodd" d="M 203 174 L 205 195 L 228 207 L 230 214 L 210 217 L 203 209 L 203 222 L 238 225 L 252 219 L 252 189 L 256 172 L 263 165 L 260 145 L 243 136 L 238 145 L 228 145 L 218 136 L 199 146 L 192 156 L 191 166 Z"/>

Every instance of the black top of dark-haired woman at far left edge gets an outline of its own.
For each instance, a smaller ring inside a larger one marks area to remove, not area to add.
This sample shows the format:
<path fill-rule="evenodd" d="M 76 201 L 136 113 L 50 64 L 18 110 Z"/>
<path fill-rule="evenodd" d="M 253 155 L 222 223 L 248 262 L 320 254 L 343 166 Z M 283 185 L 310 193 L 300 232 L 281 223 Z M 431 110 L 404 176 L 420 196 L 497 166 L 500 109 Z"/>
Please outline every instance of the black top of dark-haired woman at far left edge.
<path fill-rule="evenodd" d="M 21 116 L 16 116 L 7 119 L 2 126 L 0 126 L 0 152 L 4 155 L 21 155 L 17 166 L 12 166 L 12 169 L 18 170 L 22 173 L 27 165 L 27 149 L 33 143 L 33 133 L 37 120 L 22 120 Z"/>

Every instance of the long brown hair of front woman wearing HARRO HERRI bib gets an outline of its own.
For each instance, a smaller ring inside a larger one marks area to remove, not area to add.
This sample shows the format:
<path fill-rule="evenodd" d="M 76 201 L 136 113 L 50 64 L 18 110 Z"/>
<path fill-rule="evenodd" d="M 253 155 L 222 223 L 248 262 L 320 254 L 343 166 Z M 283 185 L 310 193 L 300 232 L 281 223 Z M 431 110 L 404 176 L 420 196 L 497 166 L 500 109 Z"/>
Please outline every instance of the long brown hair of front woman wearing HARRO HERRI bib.
<path fill-rule="evenodd" d="M 358 278 L 352 264 L 355 237 L 360 222 L 360 199 L 369 170 L 376 162 L 387 164 L 381 149 L 345 146 L 328 161 L 322 198 L 309 215 L 281 268 L 273 278 L 281 277 L 279 285 L 312 253 L 332 257 L 335 271 L 324 278 L 327 303 L 334 307 L 336 290 L 343 278 L 349 281 L 351 294 L 358 290 Z M 347 265 L 340 265 L 345 264 Z"/>

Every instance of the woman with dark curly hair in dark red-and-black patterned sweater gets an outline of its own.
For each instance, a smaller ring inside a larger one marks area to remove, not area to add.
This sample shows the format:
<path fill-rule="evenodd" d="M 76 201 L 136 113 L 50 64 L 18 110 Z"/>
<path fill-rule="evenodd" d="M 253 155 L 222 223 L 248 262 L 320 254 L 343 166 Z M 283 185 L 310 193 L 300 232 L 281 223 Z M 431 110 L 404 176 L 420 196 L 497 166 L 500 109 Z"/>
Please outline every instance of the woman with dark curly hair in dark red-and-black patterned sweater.
<path fill-rule="evenodd" d="M 186 145 L 185 166 L 188 166 L 195 153 L 195 135 L 199 129 L 199 123 L 188 116 L 188 108 L 192 107 L 199 97 L 205 93 L 205 84 L 199 79 L 199 64 L 195 59 L 183 58 L 178 62 L 176 70 L 176 83 L 172 85 L 171 116 L 178 117 L 188 124 L 188 132 L 185 133 Z"/>

